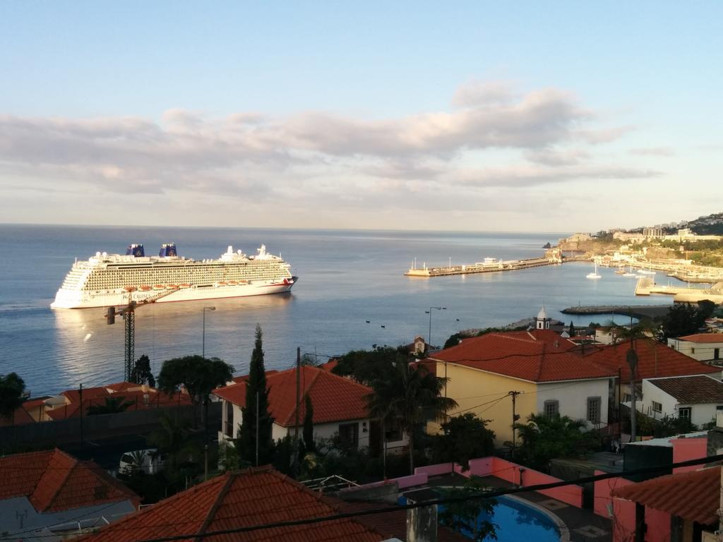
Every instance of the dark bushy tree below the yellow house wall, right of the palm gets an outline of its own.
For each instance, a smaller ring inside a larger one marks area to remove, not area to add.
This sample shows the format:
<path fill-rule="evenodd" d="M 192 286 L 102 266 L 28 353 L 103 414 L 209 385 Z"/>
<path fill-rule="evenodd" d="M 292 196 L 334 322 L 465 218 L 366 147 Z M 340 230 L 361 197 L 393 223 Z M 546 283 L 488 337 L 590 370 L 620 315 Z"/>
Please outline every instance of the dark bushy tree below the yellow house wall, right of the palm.
<path fill-rule="evenodd" d="M 469 468 L 469 460 L 495 452 L 495 431 L 487 429 L 486 420 L 473 413 L 453 416 L 442 423 L 442 434 L 432 440 L 435 463 L 459 463 Z"/>

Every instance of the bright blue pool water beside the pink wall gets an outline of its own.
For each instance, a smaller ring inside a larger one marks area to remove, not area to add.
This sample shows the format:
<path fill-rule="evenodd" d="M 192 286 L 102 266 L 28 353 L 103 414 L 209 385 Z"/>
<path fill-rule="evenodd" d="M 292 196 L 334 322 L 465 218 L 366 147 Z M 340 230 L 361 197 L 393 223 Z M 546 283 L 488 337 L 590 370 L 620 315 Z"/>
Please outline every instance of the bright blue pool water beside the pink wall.
<path fill-rule="evenodd" d="M 496 497 L 492 514 L 482 512 L 479 522 L 495 523 L 497 542 L 559 542 L 560 531 L 550 518 L 539 510 L 509 497 Z M 406 498 L 400 497 L 399 504 L 406 504 Z M 440 506 L 440 511 L 444 507 Z M 472 538 L 471 533 L 462 533 Z M 489 538 L 487 538 L 489 540 Z"/>

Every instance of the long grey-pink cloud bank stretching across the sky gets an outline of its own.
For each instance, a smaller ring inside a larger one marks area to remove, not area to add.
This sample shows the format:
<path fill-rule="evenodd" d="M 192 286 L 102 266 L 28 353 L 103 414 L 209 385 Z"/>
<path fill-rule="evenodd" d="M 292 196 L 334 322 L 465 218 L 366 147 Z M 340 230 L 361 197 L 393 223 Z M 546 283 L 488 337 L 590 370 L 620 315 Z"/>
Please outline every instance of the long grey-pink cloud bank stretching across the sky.
<path fill-rule="evenodd" d="M 5 194 L 39 190 L 50 202 L 64 190 L 77 194 L 79 209 L 90 194 L 142 194 L 179 206 L 235 198 L 369 210 L 393 199 L 474 208 L 490 189 L 501 205 L 521 187 L 659 175 L 596 157 L 596 145 L 633 128 L 599 126 L 599 115 L 564 90 L 473 82 L 452 102 L 450 111 L 373 121 L 326 111 L 210 118 L 168 109 L 159 121 L 0 115 L 0 174 L 13 179 Z"/>

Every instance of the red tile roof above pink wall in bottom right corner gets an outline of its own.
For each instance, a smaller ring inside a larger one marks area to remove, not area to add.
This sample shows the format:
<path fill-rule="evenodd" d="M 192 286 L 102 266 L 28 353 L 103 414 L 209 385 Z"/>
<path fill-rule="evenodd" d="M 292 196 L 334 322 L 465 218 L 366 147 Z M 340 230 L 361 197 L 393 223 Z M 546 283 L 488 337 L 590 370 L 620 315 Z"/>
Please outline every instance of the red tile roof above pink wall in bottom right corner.
<path fill-rule="evenodd" d="M 670 474 L 612 491 L 612 496 L 639 502 L 685 520 L 703 525 L 718 524 L 721 468 Z"/>

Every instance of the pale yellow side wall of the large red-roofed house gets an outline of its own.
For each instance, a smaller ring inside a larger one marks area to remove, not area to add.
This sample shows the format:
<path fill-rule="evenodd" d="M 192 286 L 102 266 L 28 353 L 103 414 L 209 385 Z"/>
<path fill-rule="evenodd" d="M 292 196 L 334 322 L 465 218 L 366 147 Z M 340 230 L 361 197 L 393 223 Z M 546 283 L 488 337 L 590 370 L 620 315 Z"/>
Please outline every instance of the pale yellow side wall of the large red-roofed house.
<path fill-rule="evenodd" d="M 516 399 L 515 411 L 524 423 L 527 416 L 536 412 L 536 384 L 498 374 L 477 371 L 469 367 L 437 362 L 437 376 L 447 377 L 447 397 L 457 401 L 458 408 L 451 410 L 449 416 L 458 413 L 474 413 L 478 418 L 489 420 L 487 428 L 495 431 L 495 444 L 512 441 L 512 397 L 508 392 L 523 392 Z M 494 401 L 494 403 L 493 403 Z M 487 404 L 483 404 L 487 403 Z M 428 427 L 433 431 L 435 428 Z"/>

